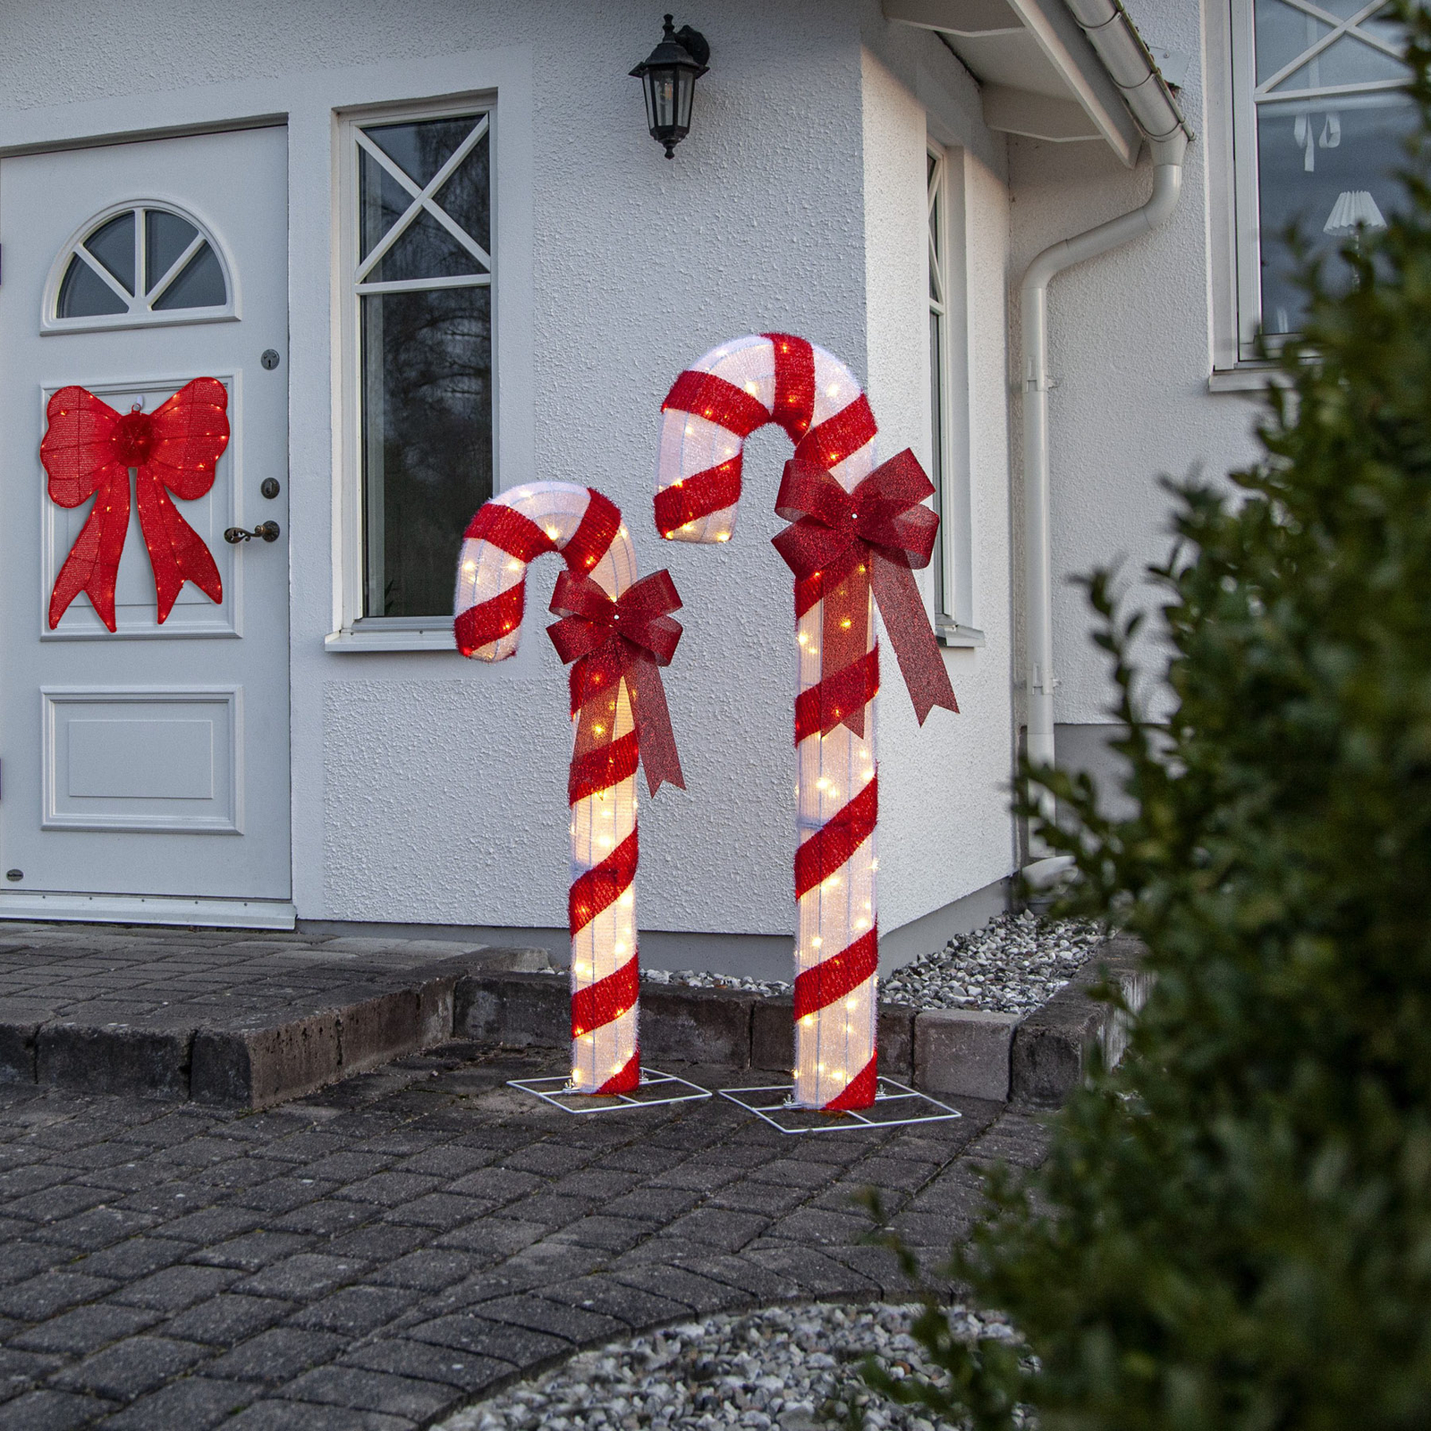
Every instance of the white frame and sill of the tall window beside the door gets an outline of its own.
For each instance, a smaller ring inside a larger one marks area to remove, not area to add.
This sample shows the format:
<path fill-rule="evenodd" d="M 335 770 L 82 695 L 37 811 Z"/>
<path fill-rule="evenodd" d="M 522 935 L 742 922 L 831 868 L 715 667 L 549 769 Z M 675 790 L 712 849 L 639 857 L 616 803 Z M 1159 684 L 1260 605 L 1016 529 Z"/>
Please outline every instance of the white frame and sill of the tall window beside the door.
<path fill-rule="evenodd" d="M 341 604 L 339 628 L 326 638 L 329 648 L 338 650 L 399 650 L 399 651 L 451 651 L 452 618 L 435 617 L 372 617 L 365 615 L 366 542 L 363 524 L 363 434 L 362 434 L 362 322 L 361 308 L 365 293 L 414 292 L 416 289 L 477 288 L 484 286 L 472 278 L 419 279 L 399 283 L 365 283 L 359 268 L 372 265 L 381 258 L 378 249 L 359 260 L 358 238 L 358 153 L 359 130 L 373 124 L 401 124 L 429 119 L 455 119 L 468 114 L 487 116 L 488 163 L 491 166 L 491 209 L 488 243 L 491 253 L 484 256 L 488 273 L 485 286 L 491 289 L 491 352 L 492 352 L 492 492 L 501 491 L 498 439 L 499 404 L 497 392 L 498 373 L 498 146 L 497 146 L 497 96 L 492 92 L 467 94 L 459 99 L 422 100 L 405 104 L 381 104 L 366 109 L 343 110 L 336 116 L 338 185 L 335 205 L 336 269 L 335 305 L 338 313 L 338 394 L 336 419 L 339 424 L 339 512 L 338 512 L 338 597 Z M 474 140 L 475 142 L 475 140 Z M 441 220 L 439 220 L 441 222 Z M 444 225 L 446 226 L 446 225 Z M 451 232 L 451 230 L 449 230 Z M 454 235 L 456 236 L 456 235 Z M 459 242 L 469 243 L 467 236 Z M 381 246 L 379 246 L 381 248 Z M 456 544 L 452 548 L 454 572 L 456 571 Z"/>

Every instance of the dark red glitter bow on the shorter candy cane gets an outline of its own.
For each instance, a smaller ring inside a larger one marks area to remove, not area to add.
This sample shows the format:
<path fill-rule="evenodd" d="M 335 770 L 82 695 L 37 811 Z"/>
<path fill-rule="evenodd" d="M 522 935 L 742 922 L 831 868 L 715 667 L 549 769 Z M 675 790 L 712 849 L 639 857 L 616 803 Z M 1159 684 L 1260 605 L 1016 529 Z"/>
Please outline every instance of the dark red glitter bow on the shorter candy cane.
<path fill-rule="evenodd" d="M 681 624 L 670 612 L 681 598 L 668 571 L 643 577 L 615 601 L 590 577 L 564 571 L 551 610 L 562 620 L 547 627 L 552 645 L 571 668 L 571 714 L 578 716 L 572 768 L 615 740 L 617 691 L 625 680 L 635 721 L 637 748 L 654 796 L 668 780 L 685 788 L 671 733 L 671 713 L 657 667 L 670 665 Z"/>

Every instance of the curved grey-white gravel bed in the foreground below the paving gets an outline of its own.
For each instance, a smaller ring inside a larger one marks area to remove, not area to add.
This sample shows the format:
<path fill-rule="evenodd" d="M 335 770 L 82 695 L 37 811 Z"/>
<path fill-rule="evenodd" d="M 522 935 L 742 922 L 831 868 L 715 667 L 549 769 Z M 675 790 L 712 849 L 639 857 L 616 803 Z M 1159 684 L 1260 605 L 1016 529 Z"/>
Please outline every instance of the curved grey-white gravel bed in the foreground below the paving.
<path fill-rule="evenodd" d="M 851 1405 L 864 1431 L 943 1431 L 947 1421 L 860 1379 L 870 1352 L 896 1378 L 942 1375 L 909 1334 L 919 1309 L 816 1302 L 685 1322 L 578 1352 L 434 1431 L 826 1431 L 847 1425 Z M 1007 1324 L 963 1307 L 949 1318 L 956 1337 L 1015 1339 Z"/>

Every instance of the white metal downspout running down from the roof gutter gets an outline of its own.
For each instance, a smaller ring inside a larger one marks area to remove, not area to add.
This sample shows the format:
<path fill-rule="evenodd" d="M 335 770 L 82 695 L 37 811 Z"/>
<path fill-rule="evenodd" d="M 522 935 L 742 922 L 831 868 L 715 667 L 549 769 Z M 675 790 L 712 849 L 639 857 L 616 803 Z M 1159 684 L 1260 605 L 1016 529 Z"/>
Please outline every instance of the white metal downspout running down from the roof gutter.
<path fill-rule="evenodd" d="M 1149 139 L 1153 193 L 1148 203 L 1045 249 L 1027 268 L 1020 288 L 1023 321 L 1023 501 L 1027 621 L 1027 756 L 1052 766 L 1053 751 L 1053 558 L 1049 535 L 1049 280 L 1073 263 L 1106 253 L 1159 228 L 1178 206 L 1182 160 L 1189 132 L 1148 47 L 1119 0 L 1069 0 L 1069 9 L 1122 89 L 1129 110 Z M 1042 796 L 1046 816 L 1052 801 Z M 1059 869 L 1047 869 L 1058 864 Z M 1053 877 L 1070 861 L 1037 860 L 1032 883 Z"/>

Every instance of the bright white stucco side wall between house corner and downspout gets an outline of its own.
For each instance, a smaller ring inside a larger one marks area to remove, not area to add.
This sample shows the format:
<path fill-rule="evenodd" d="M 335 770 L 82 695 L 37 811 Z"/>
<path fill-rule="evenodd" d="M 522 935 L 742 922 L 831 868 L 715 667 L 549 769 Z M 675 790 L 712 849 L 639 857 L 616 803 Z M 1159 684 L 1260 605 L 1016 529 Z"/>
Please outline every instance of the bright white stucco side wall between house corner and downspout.
<path fill-rule="evenodd" d="M 880 920 L 894 930 L 1002 879 L 1012 867 L 1009 501 L 1003 372 L 1007 195 L 997 169 L 1003 142 L 975 117 L 977 92 L 933 36 L 867 26 L 863 63 L 866 308 L 869 392 L 880 451 L 912 446 L 933 469 L 929 412 L 927 249 L 910 245 L 926 218 L 926 149 L 949 145 L 950 187 L 963 190 L 953 245 L 969 275 L 969 302 L 952 315 L 952 341 L 969 349 L 969 435 L 960 434 L 950 481 L 973 485 L 975 600 L 987 644 L 949 650 L 960 714 L 932 711 L 923 728 L 893 651 L 881 653 Z M 957 303 L 954 305 L 957 308 Z M 964 395 L 953 395 L 957 402 Z M 932 570 L 924 574 L 930 587 Z M 887 833 L 886 833 L 887 831 Z"/>

